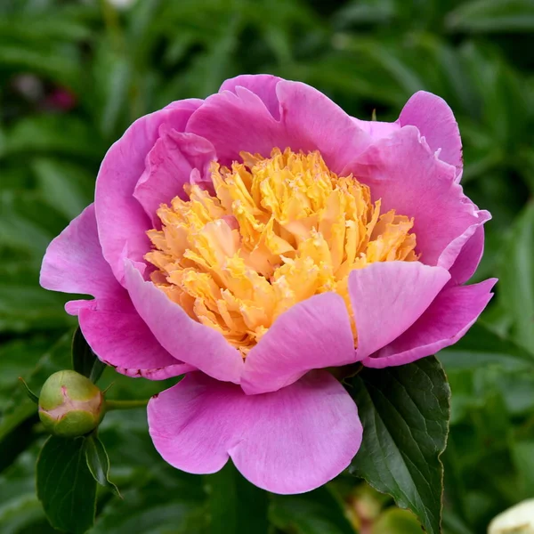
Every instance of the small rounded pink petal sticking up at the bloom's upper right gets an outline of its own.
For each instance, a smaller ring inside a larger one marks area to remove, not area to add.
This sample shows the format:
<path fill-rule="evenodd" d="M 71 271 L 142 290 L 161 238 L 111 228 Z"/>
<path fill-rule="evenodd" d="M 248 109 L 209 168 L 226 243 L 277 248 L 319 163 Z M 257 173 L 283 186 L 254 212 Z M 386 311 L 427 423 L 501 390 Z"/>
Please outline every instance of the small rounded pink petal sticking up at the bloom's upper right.
<path fill-rule="evenodd" d="M 425 136 L 433 152 L 440 150 L 439 158 L 462 170 L 462 140 L 456 118 L 449 104 L 433 93 L 415 93 L 401 111 L 401 126 L 413 125 Z"/>

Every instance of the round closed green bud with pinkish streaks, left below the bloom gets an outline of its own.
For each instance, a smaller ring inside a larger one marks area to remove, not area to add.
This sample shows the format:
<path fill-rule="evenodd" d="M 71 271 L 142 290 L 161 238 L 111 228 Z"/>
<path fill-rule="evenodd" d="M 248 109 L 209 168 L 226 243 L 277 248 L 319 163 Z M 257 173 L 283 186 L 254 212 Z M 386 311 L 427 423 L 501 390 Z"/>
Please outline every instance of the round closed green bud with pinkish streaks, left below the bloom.
<path fill-rule="evenodd" d="M 104 417 L 102 392 L 76 371 L 49 376 L 39 397 L 39 417 L 48 432 L 64 438 L 90 433 Z"/>

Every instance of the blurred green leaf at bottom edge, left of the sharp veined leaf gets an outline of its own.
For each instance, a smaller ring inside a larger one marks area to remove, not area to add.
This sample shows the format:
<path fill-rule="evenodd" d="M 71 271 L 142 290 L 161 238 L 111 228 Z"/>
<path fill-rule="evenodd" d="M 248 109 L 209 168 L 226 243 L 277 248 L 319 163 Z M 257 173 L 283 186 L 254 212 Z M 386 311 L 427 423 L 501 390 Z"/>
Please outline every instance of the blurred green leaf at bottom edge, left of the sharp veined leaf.
<path fill-rule="evenodd" d="M 302 495 L 272 496 L 271 522 L 295 534 L 355 534 L 338 498 L 323 486 Z"/>

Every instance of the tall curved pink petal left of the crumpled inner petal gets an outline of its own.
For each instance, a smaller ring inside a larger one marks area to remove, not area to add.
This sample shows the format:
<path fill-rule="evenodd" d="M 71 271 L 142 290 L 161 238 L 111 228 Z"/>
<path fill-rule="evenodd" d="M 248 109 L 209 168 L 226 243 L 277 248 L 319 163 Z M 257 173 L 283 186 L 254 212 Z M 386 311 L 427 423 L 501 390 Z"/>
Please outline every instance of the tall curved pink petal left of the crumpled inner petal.
<path fill-rule="evenodd" d="M 96 220 L 103 255 L 117 280 L 124 282 L 125 251 L 134 261 L 150 249 L 146 231 L 150 219 L 134 198 L 135 184 L 145 170 L 145 158 L 158 141 L 159 128 L 183 131 L 202 101 L 174 102 L 173 106 L 141 117 L 108 150 L 102 161 L 95 192 Z"/>

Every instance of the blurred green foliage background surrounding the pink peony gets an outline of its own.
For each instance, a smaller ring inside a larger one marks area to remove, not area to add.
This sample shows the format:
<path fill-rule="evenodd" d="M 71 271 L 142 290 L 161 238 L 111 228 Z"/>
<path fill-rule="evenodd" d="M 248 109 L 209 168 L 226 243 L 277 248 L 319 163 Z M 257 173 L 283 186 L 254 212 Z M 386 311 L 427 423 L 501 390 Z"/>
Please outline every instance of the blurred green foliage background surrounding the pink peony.
<path fill-rule="evenodd" d="M 240 73 L 301 80 L 364 119 L 394 120 L 420 89 L 449 102 L 465 192 L 493 214 L 474 278 L 500 282 L 440 354 L 452 388 L 443 531 L 483 533 L 534 497 L 533 32 L 532 0 L 0 0 L 0 532 L 53 531 L 35 494 L 44 436 L 17 384 L 38 392 L 69 367 L 76 324 L 38 286 L 45 247 L 92 201 L 127 125 Z M 167 385 L 111 369 L 104 381 L 125 399 Z M 262 506 L 271 532 L 420 532 L 349 476 L 264 500 L 230 469 L 179 473 L 152 448 L 142 409 L 109 414 L 101 437 L 124 500 L 102 489 L 95 534 L 245 532 L 239 517 Z"/>

